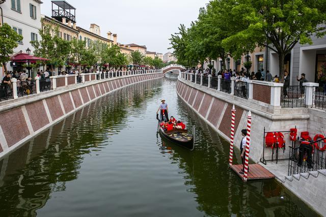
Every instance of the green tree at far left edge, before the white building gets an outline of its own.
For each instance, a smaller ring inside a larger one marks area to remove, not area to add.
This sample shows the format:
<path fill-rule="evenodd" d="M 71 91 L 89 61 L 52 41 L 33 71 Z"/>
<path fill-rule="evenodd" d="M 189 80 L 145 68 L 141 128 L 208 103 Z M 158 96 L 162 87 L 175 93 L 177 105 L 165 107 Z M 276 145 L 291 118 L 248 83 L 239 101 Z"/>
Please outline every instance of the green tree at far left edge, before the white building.
<path fill-rule="evenodd" d="M 7 73 L 7 61 L 13 54 L 13 49 L 18 46 L 18 41 L 21 41 L 22 36 L 18 35 L 14 29 L 7 23 L 0 27 L 0 63 L 3 64 Z"/>

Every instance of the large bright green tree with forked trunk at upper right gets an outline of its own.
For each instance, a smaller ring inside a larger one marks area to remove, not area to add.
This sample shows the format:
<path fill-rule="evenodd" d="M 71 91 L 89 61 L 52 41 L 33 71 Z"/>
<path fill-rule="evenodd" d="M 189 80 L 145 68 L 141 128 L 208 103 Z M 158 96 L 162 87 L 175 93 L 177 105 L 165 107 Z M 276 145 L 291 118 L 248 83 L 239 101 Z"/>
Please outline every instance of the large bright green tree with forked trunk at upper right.
<path fill-rule="evenodd" d="M 312 37 L 325 35 L 325 6 L 324 0 L 237 0 L 232 10 L 241 12 L 249 25 L 225 43 L 241 46 L 250 39 L 275 51 L 283 80 L 284 58 L 293 47 L 297 43 L 312 44 Z"/>

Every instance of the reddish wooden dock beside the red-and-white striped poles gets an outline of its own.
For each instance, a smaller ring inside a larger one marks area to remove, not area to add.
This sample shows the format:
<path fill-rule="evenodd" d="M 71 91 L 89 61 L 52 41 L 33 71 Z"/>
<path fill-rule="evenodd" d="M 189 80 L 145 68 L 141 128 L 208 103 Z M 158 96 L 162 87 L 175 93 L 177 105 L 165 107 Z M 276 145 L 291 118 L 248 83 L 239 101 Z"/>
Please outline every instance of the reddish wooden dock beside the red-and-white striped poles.
<path fill-rule="evenodd" d="M 242 169 L 242 164 L 240 165 L 232 165 L 230 166 L 231 169 L 240 176 L 240 178 L 243 178 L 243 174 L 240 174 Z M 250 164 L 249 165 L 249 173 L 247 176 L 248 180 L 257 180 L 257 179 L 268 179 L 268 178 L 275 178 L 275 175 L 273 173 L 269 172 L 267 169 L 265 169 L 260 164 Z"/>

